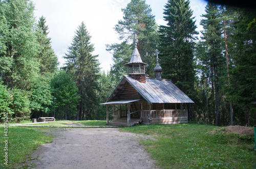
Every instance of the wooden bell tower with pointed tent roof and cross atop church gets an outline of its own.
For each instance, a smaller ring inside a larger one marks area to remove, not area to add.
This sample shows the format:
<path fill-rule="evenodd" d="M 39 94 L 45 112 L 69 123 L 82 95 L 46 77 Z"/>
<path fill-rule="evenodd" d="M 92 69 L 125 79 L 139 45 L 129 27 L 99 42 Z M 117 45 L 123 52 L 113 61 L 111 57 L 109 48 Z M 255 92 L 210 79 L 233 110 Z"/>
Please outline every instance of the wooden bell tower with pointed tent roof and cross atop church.
<path fill-rule="evenodd" d="M 140 53 L 137 49 L 137 38 L 135 34 L 135 48 L 132 54 L 132 58 L 129 63 L 125 64 L 128 68 L 128 75 L 131 76 L 133 79 L 145 83 L 146 76 L 145 67 L 148 66 L 146 63 L 143 63 L 140 57 Z"/>

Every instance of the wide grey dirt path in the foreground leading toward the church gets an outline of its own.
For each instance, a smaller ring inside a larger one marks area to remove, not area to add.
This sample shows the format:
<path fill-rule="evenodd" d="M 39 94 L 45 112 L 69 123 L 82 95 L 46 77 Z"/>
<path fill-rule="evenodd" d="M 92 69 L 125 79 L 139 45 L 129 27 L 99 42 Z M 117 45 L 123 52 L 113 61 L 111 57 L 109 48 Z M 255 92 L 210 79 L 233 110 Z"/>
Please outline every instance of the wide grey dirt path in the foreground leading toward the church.
<path fill-rule="evenodd" d="M 39 147 L 36 168 L 156 168 L 138 145 L 139 135 L 117 128 L 71 128 L 58 131 L 53 143 Z"/>

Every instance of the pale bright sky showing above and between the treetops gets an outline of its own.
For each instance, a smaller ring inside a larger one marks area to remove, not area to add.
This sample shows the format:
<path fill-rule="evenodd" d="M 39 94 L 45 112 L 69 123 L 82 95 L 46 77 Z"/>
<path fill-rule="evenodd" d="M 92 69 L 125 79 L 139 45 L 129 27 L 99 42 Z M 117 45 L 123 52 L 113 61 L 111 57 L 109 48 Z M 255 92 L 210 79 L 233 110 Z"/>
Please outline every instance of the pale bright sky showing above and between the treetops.
<path fill-rule="evenodd" d="M 94 44 L 94 55 L 99 55 L 101 71 L 110 71 L 113 65 L 112 54 L 106 51 L 106 44 L 120 43 L 118 34 L 113 27 L 121 20 L 122 8 L 126 8 L 131 0 L 32 0 L 35 5 L 36 20 L 42 15 L 49 27 L 48 37 L 51 38 L 52 48 L 56 53 L 61 67 L 67 61 L 63 59 L 68 53 L 77 27 L 83 21 L 91 35 Z M 146 0 L 158 25 L 164 25 L 163 9 L 167 0 Z M 202 31 L 200 15 L 205 13 L 207 2 L 190 0 L 190 8 L 196 17 L 197 31 Z M 132 55 L 132 53 L 131 53 Z"/>

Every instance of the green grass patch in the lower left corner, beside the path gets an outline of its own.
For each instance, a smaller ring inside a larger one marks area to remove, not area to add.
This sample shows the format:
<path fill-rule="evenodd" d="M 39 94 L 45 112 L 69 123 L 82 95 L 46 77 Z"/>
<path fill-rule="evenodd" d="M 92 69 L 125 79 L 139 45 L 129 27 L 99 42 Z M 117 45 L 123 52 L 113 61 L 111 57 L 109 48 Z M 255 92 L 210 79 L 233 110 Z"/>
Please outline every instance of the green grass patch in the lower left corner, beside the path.
<path fill-rule="evenodd" d="M 8 168 L 17 168 L 16 164 L 26 161 L 27 156 L 36 150 L 36 148 L 45 143 L 52 142 L 52 135 L 46 135 L 46 132 L 33 128 L 8 127 L 8 133 L 4 133 L 4 127 L 0 127 L 0 168 L 7 168 L 4 163 L 5 152 L 8 152 Z M 4 137 L 8 134 L 8 151 L 5 151 Z"/>

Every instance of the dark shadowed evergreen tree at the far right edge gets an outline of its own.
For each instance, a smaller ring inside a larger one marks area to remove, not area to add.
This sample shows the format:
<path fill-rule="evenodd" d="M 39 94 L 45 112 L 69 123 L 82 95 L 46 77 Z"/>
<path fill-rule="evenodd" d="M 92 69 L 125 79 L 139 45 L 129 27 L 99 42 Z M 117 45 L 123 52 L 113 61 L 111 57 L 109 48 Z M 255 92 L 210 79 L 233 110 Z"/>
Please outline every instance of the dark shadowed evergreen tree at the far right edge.
<path fill-rule="evenodd" d="M 231 36 L 235 43 L 230 50 L 233 64 L 230 65 L 229 98 L 239 106 L 244 119 L 242 124 L 255 125 L 256 12 L 248 9 L 238 11 L 238 21 L 234 23 L 236 32 Z"/>

